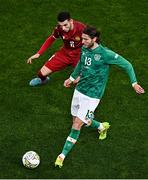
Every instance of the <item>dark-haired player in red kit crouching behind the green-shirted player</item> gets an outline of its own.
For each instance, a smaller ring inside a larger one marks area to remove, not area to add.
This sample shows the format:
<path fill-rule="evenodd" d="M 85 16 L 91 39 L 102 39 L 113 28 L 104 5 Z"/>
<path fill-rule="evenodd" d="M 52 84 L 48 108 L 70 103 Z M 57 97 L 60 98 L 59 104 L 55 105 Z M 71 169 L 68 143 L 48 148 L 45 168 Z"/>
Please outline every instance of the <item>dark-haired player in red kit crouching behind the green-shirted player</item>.
<path fill-rule="evenodd" d="M 58 25 L 55 27 L 53 33 L 46 39 L 40 50 L 27 60 L 27 63 L 32 64 L 32 60 L 39 58 L 57 38 L 63 40 L 63 47 L 43 65 L 37 74 L 38 78 L 34 78 L 30 81 L 30 86 L 46 84 L 49 80 L 48 75 L 60 71 L 68 65 L 75 67 L 79 61 L 82 47 L 81 36 L 85 25 L 73 20 L 69 12 L 60 12 L 57 16 L 57 20 Z"/>

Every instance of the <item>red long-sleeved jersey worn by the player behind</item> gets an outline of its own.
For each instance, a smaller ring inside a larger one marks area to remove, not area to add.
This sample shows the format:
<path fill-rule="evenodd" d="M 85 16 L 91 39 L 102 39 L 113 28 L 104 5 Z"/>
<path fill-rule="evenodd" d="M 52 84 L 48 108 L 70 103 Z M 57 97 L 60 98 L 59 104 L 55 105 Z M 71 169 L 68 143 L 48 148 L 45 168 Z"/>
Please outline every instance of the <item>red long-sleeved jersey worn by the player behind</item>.
<path fill-rule="evenodd" d="M 64 43 L 64 48 L 67 50 L 79 49 L 82 47 L 82 33 L 85 28 L 83 23 L 73 20 L 73 29 L 69 32 L 65 32 L 58 25 L 55 27 L 51 36 L 49 36 L 40 50 L 37 52 L 38 54 L 42 54 L 51 44 L 57 39 L 61 38 Z"/>

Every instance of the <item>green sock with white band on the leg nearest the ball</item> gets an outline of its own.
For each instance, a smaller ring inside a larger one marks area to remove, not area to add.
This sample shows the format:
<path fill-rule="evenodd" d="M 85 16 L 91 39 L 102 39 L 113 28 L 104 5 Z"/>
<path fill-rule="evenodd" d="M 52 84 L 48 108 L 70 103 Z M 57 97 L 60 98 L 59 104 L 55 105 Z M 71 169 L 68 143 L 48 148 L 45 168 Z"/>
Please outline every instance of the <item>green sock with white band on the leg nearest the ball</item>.
<path fill-rule="evenodd" d="M 70 152 L 74 144 L 76 143 L 77 139 L 79 138 L 80 130 L 71 129 L 69 136 L 64 144 L 62 154 L 65 156 Z"/>

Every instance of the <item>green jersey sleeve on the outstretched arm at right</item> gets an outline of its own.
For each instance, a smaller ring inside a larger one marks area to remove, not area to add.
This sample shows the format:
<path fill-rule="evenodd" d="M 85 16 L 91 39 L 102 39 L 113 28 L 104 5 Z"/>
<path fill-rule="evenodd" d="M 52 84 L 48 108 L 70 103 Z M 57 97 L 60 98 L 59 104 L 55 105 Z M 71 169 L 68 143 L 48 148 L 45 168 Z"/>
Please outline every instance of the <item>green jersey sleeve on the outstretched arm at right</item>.
<path fill-rule="evenodd" d="M 127 61 L 125 58 L 123 58 L 122 56 L 120 56 L 119 54 L 113 51 L 110 51 L 105 59 L 107 64 L 114 64 L 124 69 L 128 74 L 132 84 L 137 82 L 134 68 L 132 64 L 129 61 Z"/>

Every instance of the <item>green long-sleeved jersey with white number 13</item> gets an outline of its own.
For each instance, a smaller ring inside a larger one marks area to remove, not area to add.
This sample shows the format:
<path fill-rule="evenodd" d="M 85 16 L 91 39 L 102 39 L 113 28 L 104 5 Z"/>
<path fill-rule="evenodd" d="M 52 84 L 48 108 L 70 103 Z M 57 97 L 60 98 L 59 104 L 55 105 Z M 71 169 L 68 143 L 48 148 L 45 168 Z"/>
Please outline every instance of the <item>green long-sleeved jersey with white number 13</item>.
<path fill-rule="evenodd" d="M 74 80 L 80 76 L 76 89 L 86 96 L 101 99 L 111 64 L 123 68 L 127 72 L 131 83 L 137 82 L 131 63 L 101 44 L 95 49 L 82 47 L 80 61 L 70 79 Z"/>

